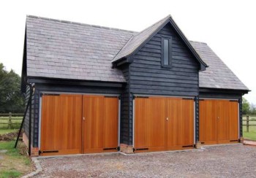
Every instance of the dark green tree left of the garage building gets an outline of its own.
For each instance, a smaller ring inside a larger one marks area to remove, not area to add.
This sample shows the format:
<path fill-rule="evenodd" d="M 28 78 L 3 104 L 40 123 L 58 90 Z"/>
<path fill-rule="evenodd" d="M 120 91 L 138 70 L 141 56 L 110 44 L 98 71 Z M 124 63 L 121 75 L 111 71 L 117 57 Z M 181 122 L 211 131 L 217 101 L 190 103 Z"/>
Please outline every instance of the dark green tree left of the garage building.
<path fill-rule="evenodd" d="M 7 71 L 0 63 L 0 112 L 24 112 L 25 101 L 20 93 L 20 76 Z"/>

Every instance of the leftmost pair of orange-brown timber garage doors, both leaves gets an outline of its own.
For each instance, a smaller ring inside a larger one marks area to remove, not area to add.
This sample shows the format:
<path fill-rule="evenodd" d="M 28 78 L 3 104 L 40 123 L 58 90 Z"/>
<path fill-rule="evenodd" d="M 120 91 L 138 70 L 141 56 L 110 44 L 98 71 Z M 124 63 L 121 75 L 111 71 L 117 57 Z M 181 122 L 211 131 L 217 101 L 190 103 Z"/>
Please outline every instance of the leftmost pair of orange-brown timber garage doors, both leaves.
<path fill-rule="evenodd" d="M 41 112 L 41 155 L 117 150 L 117 97 L 45 94 Z"/>

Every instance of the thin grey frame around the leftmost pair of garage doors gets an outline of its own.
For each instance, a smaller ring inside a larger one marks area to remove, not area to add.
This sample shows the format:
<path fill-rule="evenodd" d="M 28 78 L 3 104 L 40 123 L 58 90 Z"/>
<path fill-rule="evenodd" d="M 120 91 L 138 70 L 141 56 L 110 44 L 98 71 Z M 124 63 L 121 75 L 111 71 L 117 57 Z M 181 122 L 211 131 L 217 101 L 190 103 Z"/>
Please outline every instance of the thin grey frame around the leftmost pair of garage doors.
<path fill-rule="evenodd" d="M 42 94 L 53 93 L 53 94 L 67 94 L 67 95 L 97 95 L 97 96 L 118 96 L 118 147 L 120 147 L 120 125 L 121 125 L 121 97 L 120 94 L 109 94 L 109 93 L 72 93 L 72 92 L 50 92 L 50 91 L 39 91 L 39 118 L 38 118 L 38 149 L 41 149 L 41 125 L 42 125 Z M 83 99 L 83 98 L 82 98 Z M 82 100 L 83 101 L 83 100 Z M 83 111 L 83 109 L 82 109 Z M 82 120 L 83 118 L 81 118 Z M 82 142 L 82 141 L 81 141 Z M 33 143 L 32 143 L 33 144 Z M 82 149 L 82 148 L 81 148 Z"/>

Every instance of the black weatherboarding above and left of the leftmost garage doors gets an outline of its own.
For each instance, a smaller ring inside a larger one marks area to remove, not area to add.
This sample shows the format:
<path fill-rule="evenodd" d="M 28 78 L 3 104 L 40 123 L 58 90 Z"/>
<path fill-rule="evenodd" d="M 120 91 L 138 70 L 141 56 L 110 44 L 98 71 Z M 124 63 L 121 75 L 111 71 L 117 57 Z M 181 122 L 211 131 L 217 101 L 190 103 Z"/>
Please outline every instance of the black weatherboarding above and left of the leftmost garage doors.
<path fill-rule="evenodd" d="M 48 83 L 35 83 L 35 93 L 32 99 L 32 136 L 33 147 L 39 146 L 39 98 L 40 93 L 43 92 L 54 92 L 54 93 L 99 93 L 99 94 L 121 94 L 123 88 L 112 88 L 112 87 L 99 87 L 99 86 L 85 86 L 85 85 L 64 85 L 64 84 L 48 84 Z M 29 115 L 28 115 L 29 116 Z M 28 117 L 29 118 L 29 117 Z M 28 130 L 29 125 L 26 126 Z M 28 133 L 28 132 L 27 132 Z"/>

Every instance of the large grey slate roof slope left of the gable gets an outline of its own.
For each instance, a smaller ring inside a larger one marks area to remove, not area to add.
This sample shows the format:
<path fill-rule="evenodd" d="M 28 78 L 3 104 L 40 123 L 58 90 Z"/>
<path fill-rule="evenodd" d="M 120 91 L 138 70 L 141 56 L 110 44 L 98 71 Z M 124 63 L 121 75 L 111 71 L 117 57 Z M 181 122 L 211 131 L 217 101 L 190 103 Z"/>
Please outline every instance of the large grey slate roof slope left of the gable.
<path fill-rule="evenodd" d="M 126 82 L 120 70 L 112 69 L 111 60 L 133 34 L 28 16 L 27 76 Z"/>

